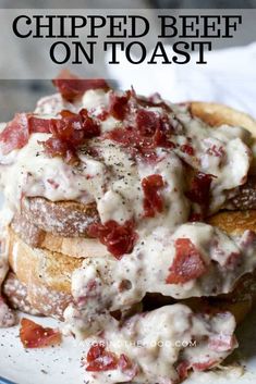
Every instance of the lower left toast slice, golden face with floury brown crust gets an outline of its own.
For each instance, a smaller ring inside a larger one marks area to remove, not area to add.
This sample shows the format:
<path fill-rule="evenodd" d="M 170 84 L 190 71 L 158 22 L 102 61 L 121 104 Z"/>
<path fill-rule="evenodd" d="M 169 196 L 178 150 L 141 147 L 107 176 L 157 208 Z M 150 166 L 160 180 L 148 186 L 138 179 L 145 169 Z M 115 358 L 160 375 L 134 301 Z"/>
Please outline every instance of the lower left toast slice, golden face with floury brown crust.
<path fill-rule="evenodd" d="M 72 301 L 71 275 L 83 259 L 31 248 L 9 231 L 9 262 L 17 280 L 26 286 L 32 307 L 44 315 L 62 319 Z"/>

